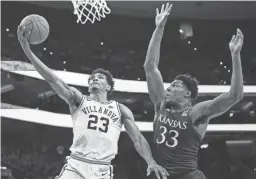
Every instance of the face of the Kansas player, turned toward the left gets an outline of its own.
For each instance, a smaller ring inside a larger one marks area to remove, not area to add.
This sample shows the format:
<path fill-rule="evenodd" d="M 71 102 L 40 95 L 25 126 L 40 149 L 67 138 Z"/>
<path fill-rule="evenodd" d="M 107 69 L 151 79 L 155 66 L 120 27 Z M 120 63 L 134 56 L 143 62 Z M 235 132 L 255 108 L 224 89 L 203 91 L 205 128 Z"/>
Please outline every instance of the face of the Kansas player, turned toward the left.
<path fill-rule="evenodd" d="M 167 88 L 165 100 L 167 103 L 179 103 L 188 94 L 187 87 L 181 80 L 173 81 Z"/>

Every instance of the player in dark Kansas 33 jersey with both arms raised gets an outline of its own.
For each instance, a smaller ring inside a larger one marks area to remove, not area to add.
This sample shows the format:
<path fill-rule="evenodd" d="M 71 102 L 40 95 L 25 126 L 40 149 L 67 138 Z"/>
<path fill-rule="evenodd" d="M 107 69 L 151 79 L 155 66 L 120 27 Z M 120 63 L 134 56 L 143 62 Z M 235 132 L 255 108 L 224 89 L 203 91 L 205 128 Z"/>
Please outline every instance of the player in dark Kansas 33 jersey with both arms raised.
<path fill-rule="evenodd" d="M 155 107 L 155 158 L 170 174 L 168 179 L 204 179 L 204 174 L 197 169 L 197 154 L 207 125 L 210 119 L 223 114 L 243 98 L 240 58 L 243 34 L 238 29 L 229 43 L 233 63 L 230 91 L 192 106 L 198 93 L 197 80 L 190 75 L 179 75 L 165 90 L 158 70 L 161 39 L 171 8 L 167 3 L 160 12 L 157 9 L 156 29 L 144 64 L 149 95 Z"/>

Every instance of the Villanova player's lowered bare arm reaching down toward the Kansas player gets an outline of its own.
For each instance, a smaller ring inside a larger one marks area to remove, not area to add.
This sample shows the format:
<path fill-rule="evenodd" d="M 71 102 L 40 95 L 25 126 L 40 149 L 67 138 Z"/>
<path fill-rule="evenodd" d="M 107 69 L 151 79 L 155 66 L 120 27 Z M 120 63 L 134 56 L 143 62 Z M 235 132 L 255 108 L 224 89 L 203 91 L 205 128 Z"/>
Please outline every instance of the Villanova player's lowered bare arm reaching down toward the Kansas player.
<path fill-rule="evenodd" d="M 122 119 L 126 132 L 132 139 L 137 152 L 144 158 L 144 160 L 148 164 L 147 175 L 149 175 L 151 172 L 155 172 L 158 179 L 160 179 L 160 175 L 163 179 L 167 179 L 167 176 L 169 175 L 168 172 L 163 167 L 158 165 L 153 159 L 150 146 L 147 140 L 141 134 L 138 126 L 135 124 L 134 116 L 131 110 L 123 104 L 120 104 L 120 110 L 122 113 Z"/>

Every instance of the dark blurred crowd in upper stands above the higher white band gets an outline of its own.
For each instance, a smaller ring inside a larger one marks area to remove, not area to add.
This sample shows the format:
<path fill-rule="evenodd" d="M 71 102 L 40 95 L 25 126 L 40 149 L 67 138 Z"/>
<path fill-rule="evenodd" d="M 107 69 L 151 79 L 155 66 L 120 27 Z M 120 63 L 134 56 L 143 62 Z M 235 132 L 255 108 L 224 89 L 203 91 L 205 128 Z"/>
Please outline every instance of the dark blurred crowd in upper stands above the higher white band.
<path fill-rule="evenodd" d="M 143 63 L 155 28 L 153 18 L 109 15 L 93 25 L 81 25 L 68 10 L 16 2 L 21 8 L 13 14 L 13 6 L 9 2 L 3 8 L 2 58 L 5 60 L 28 62 L 19 46 L 16 28 L 23 17 L 37 12 L 48 20 L 50 35 L 32 49 L 50 68 L 91 73 L 102 67 L 109 69 L 116 78 L 145 80 Z M 60 21 L 60 17 L 65 21 Z M 191 20 L 194 36 L 189 39 L 180 37 L 181 22 L 170 19 L 165 29 L 160 57 L 164 81 L 180 73 L 190 73 L 201 84 L 229 84 L 231 72 L 228 70 L 232 69 L 232 61 L 228 43 L 239 27 L 245 36 L 244 81 L 248 85 L 255 84 L 255 20 Z"/>

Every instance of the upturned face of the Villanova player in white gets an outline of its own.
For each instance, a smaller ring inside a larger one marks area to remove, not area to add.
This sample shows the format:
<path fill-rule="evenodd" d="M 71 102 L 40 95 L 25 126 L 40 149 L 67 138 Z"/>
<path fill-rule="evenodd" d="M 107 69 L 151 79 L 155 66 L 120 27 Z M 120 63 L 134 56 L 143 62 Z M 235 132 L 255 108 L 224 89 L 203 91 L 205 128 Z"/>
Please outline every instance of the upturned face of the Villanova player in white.
<path fill-rule="evenodd" d="M 95 89 L 105 92 L 108 92 L 110 90 L 107 77 L 104 74 L 95 73 L 91 75 L 89 80 L 89 92 Z"/>

